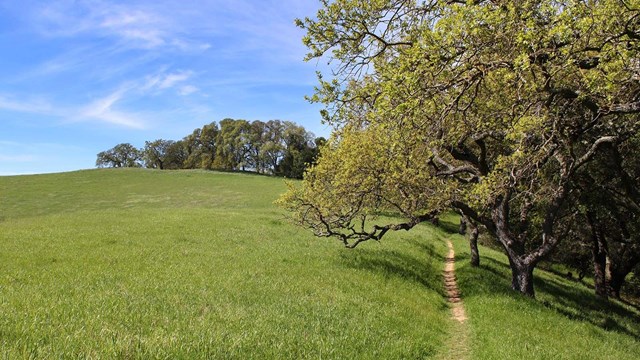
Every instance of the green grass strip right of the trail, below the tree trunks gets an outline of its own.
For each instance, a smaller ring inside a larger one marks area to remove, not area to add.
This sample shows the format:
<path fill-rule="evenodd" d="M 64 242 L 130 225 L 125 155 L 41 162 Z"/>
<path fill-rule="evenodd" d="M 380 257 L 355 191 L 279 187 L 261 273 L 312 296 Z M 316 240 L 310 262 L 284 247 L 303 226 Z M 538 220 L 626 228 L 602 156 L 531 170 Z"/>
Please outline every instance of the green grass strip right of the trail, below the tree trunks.
<path fill-rule="evenodd" d="M 640 313 L 603 304 L 593 289 L 536 270 L 536 299 L 510 291 L 506 257 L 481 248 L 469 264 L 468 242 L 455 237 L 458 285 L 471 330 L 472 359 L 640 359 Z"/>

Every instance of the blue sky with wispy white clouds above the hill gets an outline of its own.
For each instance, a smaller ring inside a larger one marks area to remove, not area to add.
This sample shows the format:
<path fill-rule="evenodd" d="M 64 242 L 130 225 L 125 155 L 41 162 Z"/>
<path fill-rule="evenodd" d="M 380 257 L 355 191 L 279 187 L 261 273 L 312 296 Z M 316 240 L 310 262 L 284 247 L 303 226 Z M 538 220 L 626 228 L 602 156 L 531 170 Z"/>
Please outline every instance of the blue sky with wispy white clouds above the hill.
<path fill-rule="evenodd" d="M 314 0 L 0 0 L 0 175 L 92 168 L 118 143 L 178 140 L 231 117 L 291 120 L 304 100 L 295 18 Z"/>

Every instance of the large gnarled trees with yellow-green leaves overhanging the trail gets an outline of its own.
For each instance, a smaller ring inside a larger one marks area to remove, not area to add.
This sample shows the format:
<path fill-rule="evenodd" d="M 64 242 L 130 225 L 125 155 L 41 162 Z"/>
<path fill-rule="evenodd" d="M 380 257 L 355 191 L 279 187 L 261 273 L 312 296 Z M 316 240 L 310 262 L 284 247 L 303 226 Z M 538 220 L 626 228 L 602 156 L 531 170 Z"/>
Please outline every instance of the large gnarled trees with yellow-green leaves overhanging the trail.
<path fill-rule="evenodd" d="M 640 262 L 640 2 L 323 0 L 298 25 L 333 64 L 311 100 L 334 127 L 280 200 L 298 223 L 355 247 L 456 211 L 514 290 L 582 254 L 619 296 Z"/>

